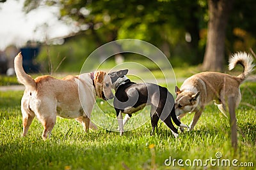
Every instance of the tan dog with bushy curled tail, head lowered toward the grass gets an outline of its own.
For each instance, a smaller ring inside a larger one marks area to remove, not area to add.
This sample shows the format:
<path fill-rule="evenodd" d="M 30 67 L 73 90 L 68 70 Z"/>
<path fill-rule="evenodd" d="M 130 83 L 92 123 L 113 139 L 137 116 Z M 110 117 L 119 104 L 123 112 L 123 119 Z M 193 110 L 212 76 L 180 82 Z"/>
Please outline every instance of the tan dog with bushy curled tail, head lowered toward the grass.
<path fill-rule="evenodd" d="M 239 76 L 216 72 L 203 72 L 195 74 L 184 81 L 180 89 L 175 87 L 177 98 L 175 99 L 175 114 L 179 118 L 186 113 L 195 112 L 195 116 L 189 125 L 190 131 L 195 127 L 196 122 L 202 115 L 205 105 L 215 101 L 220 111 L 225 115 L 228 106 L 228 97 L 236 99 L 236 107 L 241 101 L 239 85 L 252 73 L 252 57 L 245 52 L 235 53 L 229 60 L 229 70 L 236 64 L 241 64 L 244 71 Z M 227 103 L 227 104 L 225 104 Z M 180 128 L 182 130 L 182 128 Z"/>

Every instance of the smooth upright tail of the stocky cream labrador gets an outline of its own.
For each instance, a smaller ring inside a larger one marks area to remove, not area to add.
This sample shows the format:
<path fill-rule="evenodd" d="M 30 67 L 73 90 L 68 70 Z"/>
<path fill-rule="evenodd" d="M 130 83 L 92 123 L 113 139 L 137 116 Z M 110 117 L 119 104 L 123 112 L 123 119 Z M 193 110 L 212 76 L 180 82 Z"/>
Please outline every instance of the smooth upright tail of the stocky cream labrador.
<path fill-rule="evenodd" d="M 21 52 L 18 53 L 18 55 L 14 59 L 14 69 L 17 76 L 17 79 L 20 83 L 25 85 L 31 90 L 34 90 L 36 88 L 36 83 L 31 76 L 25 73 L 23 67 L 22 67 L 22 55 Z"/>

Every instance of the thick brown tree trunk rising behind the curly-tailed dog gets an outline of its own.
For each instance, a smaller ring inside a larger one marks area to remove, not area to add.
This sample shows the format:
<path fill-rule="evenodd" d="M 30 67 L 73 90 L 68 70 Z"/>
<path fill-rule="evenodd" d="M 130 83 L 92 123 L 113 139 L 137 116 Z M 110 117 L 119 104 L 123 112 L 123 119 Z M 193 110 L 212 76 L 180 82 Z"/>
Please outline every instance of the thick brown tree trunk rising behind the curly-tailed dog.
<path fill-rule="evenodd" d="M 209 22 L 202 68 L 205 71 L 223 71 L 225 29 L 233 0 L 208 0 Z"/>

